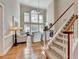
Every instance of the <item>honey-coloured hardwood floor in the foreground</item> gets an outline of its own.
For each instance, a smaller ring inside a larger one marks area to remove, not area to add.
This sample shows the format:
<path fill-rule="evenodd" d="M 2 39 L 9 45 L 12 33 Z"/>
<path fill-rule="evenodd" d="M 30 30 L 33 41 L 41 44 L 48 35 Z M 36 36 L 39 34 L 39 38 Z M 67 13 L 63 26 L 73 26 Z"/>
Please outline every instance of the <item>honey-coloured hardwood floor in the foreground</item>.
<path fill-rule="evenodd" d="M 41 43 L 33 43 L 33 51 L 38 57 L 37 59 L 45 59 L 41 53 Z M 12 47 L 11 50 L 0 59 L 26 59 L 25 50 L 27 48 L 26 44 L 18 44 L 15 47 Z"/>

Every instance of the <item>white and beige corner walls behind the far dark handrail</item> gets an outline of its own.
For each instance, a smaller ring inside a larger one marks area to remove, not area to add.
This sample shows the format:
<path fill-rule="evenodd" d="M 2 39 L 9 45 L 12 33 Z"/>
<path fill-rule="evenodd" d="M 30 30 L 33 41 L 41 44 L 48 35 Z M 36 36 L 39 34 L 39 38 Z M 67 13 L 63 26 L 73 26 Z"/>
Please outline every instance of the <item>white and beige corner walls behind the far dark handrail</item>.
<path fill-rule="evenodd" d="M 47 25 L 54 23 L 58 17 L 72 4 L 73 0 L 52 0 L 47 8 Z M 55 32 L 60 28 L 65 20 L 69 20 L 74 13 L 74 6 L 58 21 L 53 28 Z"/>

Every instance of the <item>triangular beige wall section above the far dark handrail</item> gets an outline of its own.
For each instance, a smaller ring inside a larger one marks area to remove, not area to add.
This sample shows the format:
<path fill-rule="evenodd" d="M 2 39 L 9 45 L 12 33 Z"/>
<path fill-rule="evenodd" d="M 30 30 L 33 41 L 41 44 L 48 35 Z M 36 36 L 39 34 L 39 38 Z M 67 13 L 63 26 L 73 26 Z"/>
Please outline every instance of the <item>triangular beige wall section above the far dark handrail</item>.
<path fill-rule="evenodd" d="M 72 2 L 73 0 L 55 0 L 55 16 L 58 18 Z"/>

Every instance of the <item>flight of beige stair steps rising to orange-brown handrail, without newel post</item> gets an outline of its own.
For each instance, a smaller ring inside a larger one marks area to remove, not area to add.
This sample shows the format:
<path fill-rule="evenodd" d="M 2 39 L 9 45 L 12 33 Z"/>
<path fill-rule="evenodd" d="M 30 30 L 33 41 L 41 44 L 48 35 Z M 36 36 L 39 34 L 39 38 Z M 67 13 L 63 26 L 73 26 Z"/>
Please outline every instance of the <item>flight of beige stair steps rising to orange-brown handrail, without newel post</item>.
<path fill-rule="evenodd" d="M 54 40 L 50 40 L 50 42 L 48 42 L 48 49 L 45 50 L 46 56 L 48 57 L 47 59 L 68 59 L 68 38 L 63 31 L 67 30 L 68 26 L 74 23 L 77 18 L 77 15 L 73 15 L 56 35 Z"/>

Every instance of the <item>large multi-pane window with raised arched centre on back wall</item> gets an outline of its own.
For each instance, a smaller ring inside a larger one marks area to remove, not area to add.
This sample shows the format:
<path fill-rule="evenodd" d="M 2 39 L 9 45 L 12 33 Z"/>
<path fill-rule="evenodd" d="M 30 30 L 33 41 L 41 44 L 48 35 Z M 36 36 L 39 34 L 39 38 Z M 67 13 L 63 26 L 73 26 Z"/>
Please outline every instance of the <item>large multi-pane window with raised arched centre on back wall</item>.
<path fill-rule="evenodd" d="M 31 17 L 31 18 L 29 18 Z M 25 32 L 42 32 L 44 27 L 43 15 L 38 14 L 36 10 L 31 11 L 31 15 L 24 13 L 24 31 Z"/>

